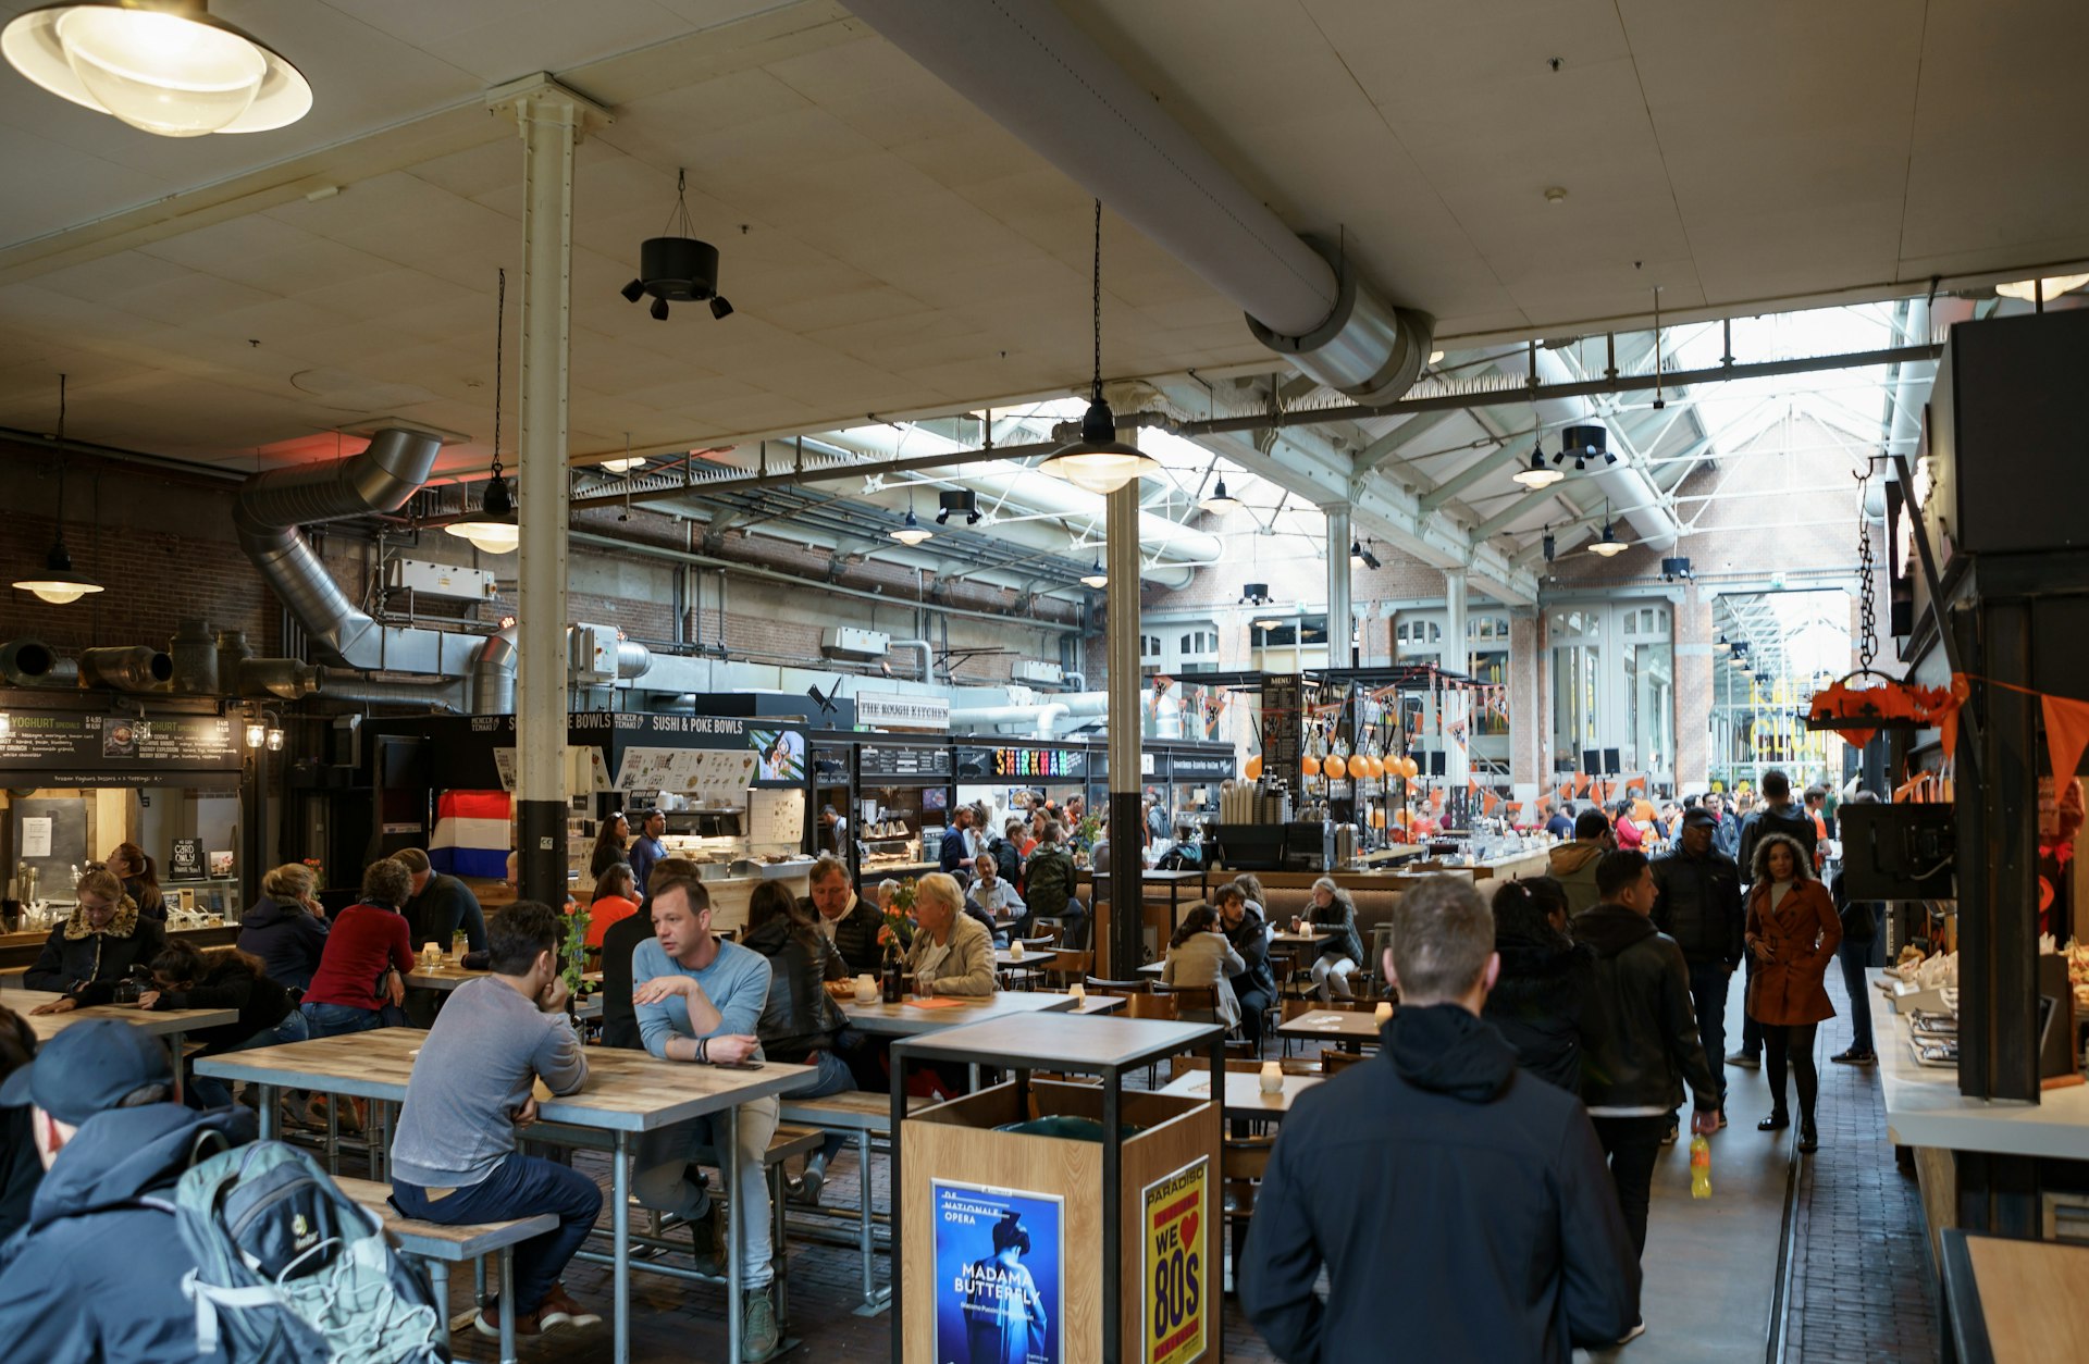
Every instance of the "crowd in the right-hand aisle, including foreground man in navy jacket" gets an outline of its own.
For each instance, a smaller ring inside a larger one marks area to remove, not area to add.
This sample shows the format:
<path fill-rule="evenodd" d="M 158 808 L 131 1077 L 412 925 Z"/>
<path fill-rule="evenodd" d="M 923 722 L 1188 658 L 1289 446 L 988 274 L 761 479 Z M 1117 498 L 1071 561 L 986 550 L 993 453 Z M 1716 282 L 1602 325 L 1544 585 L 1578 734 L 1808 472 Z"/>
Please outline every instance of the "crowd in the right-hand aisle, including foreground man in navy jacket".
<path fill-rule="evenodd" d="M 1861 973 L 1876 917 L 1820 884 L 1824 802 L 1794 802 L 1771 771 L 1759 808 L 1723 804 L 1677 806 L 1654 859 L 1621 838 L 1629 810 L 1548 810 L 1571 819 L 1550 875 L 1492 902 L 1450 877 L 1398 900 L 1383 1063 L 1299 1097 L 1255 1199 L 1241 1301 L 1278 1358 L 1381 1354 L 1387 1283 L 1418 1303 L 1402 1314 L 1416 1358 L 1567 1360 L 1638 1339 L 1661 1151 L 1684 1103 L 1694 1134 L 1728 1124 L 1721 1061 L 1757 1063 L 1751 1042 L 1769 1059 L 1757 1128 L 1788 1128 L 1797 1092 L 1797 1149 L 1817 1149 L 1824 973 L 1845 925 Z M 1751 1036 L 1723 1055 L 1744 963 Z M 1870 1038 L 1834 1059 L 1872 1061 Z"/>

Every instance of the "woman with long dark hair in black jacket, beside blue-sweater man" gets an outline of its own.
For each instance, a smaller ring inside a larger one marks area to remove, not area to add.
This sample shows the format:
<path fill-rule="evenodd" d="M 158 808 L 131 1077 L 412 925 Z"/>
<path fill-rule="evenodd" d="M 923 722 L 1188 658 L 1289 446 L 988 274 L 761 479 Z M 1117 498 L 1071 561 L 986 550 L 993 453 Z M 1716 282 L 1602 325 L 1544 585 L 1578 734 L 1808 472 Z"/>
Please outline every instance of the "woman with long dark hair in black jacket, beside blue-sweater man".
<path fill-rule="evenodd" d="M 762 1055 L 771 1061 L 813 1065 L 819 1072 L 808 1088 L 792 1095 L 819 1099 L 852 1088 L 884 1090 L 863 1036 L 848 1028 L 848 1015 L 827 994 L 827 982 L 846 980 L 848 965 L 781 881 L 762 881 L 754 888 L 748 898 L 744 944 L 769 959 L 769 1003 L 754 1026 Z M 871 1084 L 861 1084 L 859 1072 L 873 1072 L 861 1076 Z M 806 1157 L 804 1174 L 790 1180 L 792 1195 L 808 1203 L 819 1201 L 827 1161 L 844 1145 L 848 1145 L 846 1132 L 827 1132 L 825 1145 Z"/>

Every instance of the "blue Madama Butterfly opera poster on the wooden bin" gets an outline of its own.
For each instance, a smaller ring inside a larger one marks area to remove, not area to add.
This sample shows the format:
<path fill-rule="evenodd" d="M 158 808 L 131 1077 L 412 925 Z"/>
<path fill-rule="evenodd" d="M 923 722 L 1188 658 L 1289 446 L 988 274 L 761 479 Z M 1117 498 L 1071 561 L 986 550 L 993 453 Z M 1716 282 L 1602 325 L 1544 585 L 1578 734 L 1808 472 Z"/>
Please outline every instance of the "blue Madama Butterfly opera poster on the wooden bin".
<path fill-rule="evenodd" d="M 936 1364 L 1059 1364 L 1061 1199 L 930 1180 L 936 1218 Z"/>

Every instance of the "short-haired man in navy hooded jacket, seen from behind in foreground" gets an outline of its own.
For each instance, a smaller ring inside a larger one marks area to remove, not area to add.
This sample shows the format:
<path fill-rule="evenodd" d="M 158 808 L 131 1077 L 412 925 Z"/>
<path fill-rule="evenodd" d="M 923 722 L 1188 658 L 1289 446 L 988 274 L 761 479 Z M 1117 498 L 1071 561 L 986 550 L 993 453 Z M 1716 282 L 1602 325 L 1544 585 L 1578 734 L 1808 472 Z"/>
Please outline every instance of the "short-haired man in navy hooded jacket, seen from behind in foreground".
<path fill-rule="evenodd" d="M 1239 1272 L 1247 1320 L 1306 1364 L 1565 1364 L 1615 1345 L 1640 1320 L 1638 1257 L 1581 1103 L 1519 1074 L 1479 1017 L 1494 915 L 1435 877 L 1393 907 L 1393 944 L 1402 1003 L 1379 1055 L 1301 1095 L 1276 1136 Z"/>

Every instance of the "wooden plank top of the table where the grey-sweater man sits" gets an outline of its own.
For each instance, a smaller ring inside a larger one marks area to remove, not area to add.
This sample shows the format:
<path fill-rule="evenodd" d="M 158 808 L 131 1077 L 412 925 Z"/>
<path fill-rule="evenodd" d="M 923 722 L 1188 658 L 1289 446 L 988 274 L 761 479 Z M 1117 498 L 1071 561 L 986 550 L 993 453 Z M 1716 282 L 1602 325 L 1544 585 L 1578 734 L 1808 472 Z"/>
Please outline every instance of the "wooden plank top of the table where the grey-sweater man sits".
<path fill-rule="evenodd" d="M 196 1074 L 249 1084 L 284 1084 L 355 1099 L 405 1099 L 414 1057 L 428 1034 L 420 1028 L 374 1028 L 313 1042 L 232 1051 L 196 1061 Z M 587 1084 L 577 1095 L 547 1099 L 537 1115 L 577 1128 L 652 1132 L 811 1084 L 811 1065 L 767 1061 L 760 1069 L 727 1069 L 656 1061 L 643 1051 L 587 1049 Z"/>

